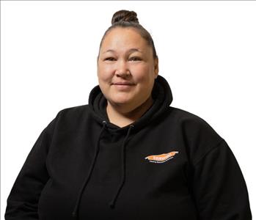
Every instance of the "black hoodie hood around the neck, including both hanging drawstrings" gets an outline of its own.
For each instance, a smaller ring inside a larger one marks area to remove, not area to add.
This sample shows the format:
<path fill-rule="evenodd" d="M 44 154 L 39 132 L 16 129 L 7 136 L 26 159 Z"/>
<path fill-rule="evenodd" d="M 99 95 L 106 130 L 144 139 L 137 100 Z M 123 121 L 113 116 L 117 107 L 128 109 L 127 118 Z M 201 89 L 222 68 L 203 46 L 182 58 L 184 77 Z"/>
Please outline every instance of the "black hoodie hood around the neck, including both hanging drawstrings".
<path fill-rule="evenodd" d="M 89 94 L 89 109 L 92 111 L 92 115 L 97 120 L 100 125 L 102 125 L 102 128 L 100 130 L 100 133 L 98 135 L 98 141 L 96 144 L 95 149 L 95 155 L 92 161 L 92 164 L 89 169 L 89 174 L 87 175 L 86 179 L 84 180 L 84 183 L 81 186 L 81 189 L 78 194 L 78 198 L 76 200 L 76 206 L 73 210 L 73 217 L 77 217 L 78 213 L 78 206 L 81 200 L 81 196 L 83 194 L 84 188 L 87 186 L 87 183 L 89 182 L 89 178 L 91 177 L 93 167 L 95 165 L 95 161 L 97 159 L 98 152 L 100 150 L 100 137 L 102 136 L 103 132 L 107 129 L 110 133 L 112 132 L 126 132 L 125 139 L 123 139 L 122 142 L 122 174 L 121 174 L 121 181 L 120 185 L 117 186 L 117 191 L 113 195 L 113 199 L 109 202 L 109 207 L 114 208 L 114 204 L 117 201 L 118 194 L 120 194 L 120 191 L 122 189 L 122 186 L 125 184 L 125 144 L 128 140 L 128 137 L 130 136 L 131 132 L 133 131 L 136 133 L 139 129 L 142 129 L 144 126 L 149 124 L 150 122 L 153 122 L 153 120 L 156 120 L 158 117 L 161 116 L 161 114 L 164 114 L 164 112 L 167 111 L 169 105 L 172 103 L 172 91 L 169 87 L 169 84 L 167 80 L 159 76 L 155 79 L 152 93 L 153 97 L 153 105 L 150 106 L 147 111 L 142 115 L 142 117 L 139 118 L 139 120 L 136 120 L 134 123 L 131 123 L 130 125 L 126 125 L 125 127 L 120 128 L 117 125 L 114 125 L 113 123 L 109 122 L 109 117 L 106 113 L 106 105 L 107 100 L 104 97 L 103 93 L 101 92 L 100 86 L 96 86 L 92 89 L 92 91 Z"/>

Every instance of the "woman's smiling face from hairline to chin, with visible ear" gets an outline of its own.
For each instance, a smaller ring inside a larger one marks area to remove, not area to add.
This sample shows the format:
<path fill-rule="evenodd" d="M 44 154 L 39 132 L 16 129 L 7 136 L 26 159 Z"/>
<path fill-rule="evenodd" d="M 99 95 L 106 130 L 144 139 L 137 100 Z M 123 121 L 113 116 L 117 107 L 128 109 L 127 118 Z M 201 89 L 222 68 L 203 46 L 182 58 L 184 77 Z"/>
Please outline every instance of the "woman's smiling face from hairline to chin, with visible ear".
<path fill-rule="evenodd" d="M 128 109 L 142 105 L 157 76 L 158 59 L 153 59 L 153 49 L 135 29 L 117 27 L 106 34 L 98 56 L 98 81 L 112 105 Z"/>

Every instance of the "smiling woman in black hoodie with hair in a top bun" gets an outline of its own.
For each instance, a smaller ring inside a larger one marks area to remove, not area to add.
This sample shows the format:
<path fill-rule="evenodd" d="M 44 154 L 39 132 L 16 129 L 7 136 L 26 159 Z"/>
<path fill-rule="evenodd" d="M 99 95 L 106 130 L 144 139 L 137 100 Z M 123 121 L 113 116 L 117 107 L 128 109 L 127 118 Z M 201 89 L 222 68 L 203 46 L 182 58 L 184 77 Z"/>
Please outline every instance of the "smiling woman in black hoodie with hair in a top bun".
<path fill-rule="evenodd" d="M 7 199 L 9 219 L 252 219 L 230 147 L 202 118 L 170 106 L 136 12 L 114 13 L 89 104 L 40 134 Z"/>

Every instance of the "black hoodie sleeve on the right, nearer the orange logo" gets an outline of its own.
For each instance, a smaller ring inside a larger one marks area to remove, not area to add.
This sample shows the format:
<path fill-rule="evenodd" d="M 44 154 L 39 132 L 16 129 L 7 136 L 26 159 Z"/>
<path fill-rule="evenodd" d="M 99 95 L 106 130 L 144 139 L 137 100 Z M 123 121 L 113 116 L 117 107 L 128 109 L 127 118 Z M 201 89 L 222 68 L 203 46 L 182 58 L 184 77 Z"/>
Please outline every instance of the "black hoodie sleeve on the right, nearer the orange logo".
<path fill-rule="evenodd" d="M 252 219 L 244 176 L 224 139 L 197 161 L 192 181 L 200 220 Z"/>

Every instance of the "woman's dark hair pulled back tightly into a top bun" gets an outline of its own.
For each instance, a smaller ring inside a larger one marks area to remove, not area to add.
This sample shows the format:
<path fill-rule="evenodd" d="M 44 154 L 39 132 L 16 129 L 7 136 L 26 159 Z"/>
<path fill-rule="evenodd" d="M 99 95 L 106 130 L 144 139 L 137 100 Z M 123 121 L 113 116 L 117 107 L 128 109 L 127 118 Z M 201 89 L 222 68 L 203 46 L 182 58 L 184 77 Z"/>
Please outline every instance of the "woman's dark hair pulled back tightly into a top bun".
<path fill-rule="evenodd" d="M 106 30 L 104 33 L 101 41 L 100 41 L 100 47 L 103 43 L 104 38 L 106 37 L 106 34 L 114 28 L 122 27 L 122 28 L 134 28 L 137 32 L 147 41 L 148 45 L 150 45 L 153 49 L 153 58 L 158 58 L 156 54 L 156 48 L 153 42 L 153 39 L 147 30 L 139 24 L 139 20 L 137 18 L 137 14 L 134 11 L 128 11 L 128 10 L 119 10 L 114 13 L 111 20 L 111 26 L 109 29 Z"/>

